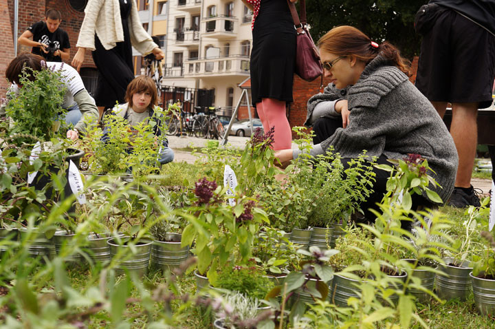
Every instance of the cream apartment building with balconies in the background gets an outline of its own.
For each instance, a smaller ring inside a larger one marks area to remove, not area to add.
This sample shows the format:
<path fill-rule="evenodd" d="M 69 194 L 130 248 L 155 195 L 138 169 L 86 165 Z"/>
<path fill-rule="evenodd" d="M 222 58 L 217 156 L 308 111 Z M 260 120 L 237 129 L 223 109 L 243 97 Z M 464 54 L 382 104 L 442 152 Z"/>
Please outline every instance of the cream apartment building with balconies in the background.
<path fill-rule="evenodd" d="M 144 28 L 164 50 L 163 85 L 214 89 L 214 106 L 234 107 L 250 76 L 252 13 L 241 0 L 140 0 Z M 136 54 L 137 55 L 137 54 Z M 139 74 L 140 57 L 135 60 Z"/>

